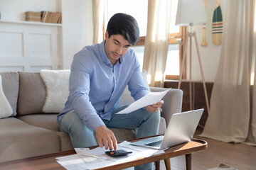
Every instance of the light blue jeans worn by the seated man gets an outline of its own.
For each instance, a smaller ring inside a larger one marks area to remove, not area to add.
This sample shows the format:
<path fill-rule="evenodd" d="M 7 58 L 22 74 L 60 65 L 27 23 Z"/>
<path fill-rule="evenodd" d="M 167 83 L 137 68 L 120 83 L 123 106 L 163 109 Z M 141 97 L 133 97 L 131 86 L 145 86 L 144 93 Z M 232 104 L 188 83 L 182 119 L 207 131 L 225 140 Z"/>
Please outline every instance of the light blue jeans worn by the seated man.
<path fill-rule="evenodd" d="M 147 137 L 157 135 L 159 131 L 160 112 L 150 113 L 141 108 L 129 114 L 115 114 L 128 105 L 117 106 L 112 111 L 111 120 L 103 120 L 107 128 L 123 128 L 134 130 L 135 136 Z M 66 113 L 59 125 L 62 132 L 68 132 L 73 147 L 91 147 L 97 145 L 93 131 L 87 128 L 75 111 Z M 135 169 L 151 169 L 153 163 L 136 166 Z"/>

